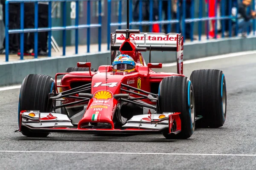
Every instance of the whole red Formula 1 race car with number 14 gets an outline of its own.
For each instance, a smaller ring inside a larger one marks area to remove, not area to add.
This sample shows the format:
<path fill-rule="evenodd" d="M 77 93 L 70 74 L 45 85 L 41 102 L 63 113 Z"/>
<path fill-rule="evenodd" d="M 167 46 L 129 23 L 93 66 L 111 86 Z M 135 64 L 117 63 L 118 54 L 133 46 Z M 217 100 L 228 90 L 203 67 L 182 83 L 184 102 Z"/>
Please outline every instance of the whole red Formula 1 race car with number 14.
<path fill-rule="evenodd" d="M 177 74 L 154 72 L 162 64 L 146 64 L 140 51 L 176 51 Z M 195 126 L 224 124 L 224 74 L 196 70 L 185 77 L 181 34 L 116 30 L 111 34 L 111 62 L 97 71 L 90 62 L 78 62 L 56 74 L 55 81 L 28 75 L 20 89 L 18 131 L 32 137 L 51 132 L 162 133 L 167 139 L 187 139 Z"/>

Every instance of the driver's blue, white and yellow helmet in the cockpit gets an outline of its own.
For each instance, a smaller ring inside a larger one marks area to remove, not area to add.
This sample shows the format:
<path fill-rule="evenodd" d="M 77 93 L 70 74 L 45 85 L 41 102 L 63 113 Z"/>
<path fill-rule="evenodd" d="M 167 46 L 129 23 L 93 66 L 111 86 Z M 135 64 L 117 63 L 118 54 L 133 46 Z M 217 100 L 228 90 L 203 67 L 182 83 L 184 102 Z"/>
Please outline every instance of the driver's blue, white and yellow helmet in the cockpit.
<path fill-rule="evenodd" d="M 113 70 L 116 72 L 126 72 L 131 73 L 135 71 L 135 62 L 134 59 L 127 54 L 120 54 L 117 56 L 113 63 Z"/>

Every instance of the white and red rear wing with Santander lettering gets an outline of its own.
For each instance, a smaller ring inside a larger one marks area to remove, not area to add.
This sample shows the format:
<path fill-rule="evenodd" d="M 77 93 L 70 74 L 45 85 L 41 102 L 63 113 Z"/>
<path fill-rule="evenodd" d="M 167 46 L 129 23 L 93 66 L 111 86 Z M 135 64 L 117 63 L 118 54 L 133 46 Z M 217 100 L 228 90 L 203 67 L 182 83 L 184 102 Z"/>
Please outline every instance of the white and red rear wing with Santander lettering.
<path fill-rule="evenodd" d="M 116 58 L 128 32 L 130 41 L 137 48 L 146 48 L 150 52 L 176 51 L 177 73 L 183 74 L 183 36 L 177 33 L 138 33 L 140 30 L 116 30 L 115 33 L 111 33 L 111 62 Z"/>

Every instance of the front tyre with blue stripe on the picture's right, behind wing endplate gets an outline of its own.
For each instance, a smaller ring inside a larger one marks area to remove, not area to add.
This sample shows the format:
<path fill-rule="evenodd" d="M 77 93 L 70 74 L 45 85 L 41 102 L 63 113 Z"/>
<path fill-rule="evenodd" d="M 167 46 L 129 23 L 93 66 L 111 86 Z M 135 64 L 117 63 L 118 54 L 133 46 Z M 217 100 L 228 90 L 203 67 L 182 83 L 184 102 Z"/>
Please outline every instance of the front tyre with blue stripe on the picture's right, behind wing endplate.
<path fill-rule="evenodd" d="M 187 77 L 164 78 L 159 85 L 160 113 L 180 112 L 181 132 L 177 135 L 163 132 L 166 139 L 187 139 L 195 129 L 195 100 L 192 83 Z"/>

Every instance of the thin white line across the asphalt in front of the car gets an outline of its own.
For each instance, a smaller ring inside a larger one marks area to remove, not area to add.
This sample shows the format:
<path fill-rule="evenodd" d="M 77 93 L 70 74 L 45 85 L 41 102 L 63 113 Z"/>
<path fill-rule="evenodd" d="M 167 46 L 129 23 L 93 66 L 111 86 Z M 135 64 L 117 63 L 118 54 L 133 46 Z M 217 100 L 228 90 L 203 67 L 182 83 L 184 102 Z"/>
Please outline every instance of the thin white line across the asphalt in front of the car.
<path fill-rule="evenodd" d="M 84 153 L 84 154 L 126 154 L 126 155 L 195 155 L 195 156 L 256 156 L 256 154 L 208 154 L 208 153 L 126 153 L 126 152 L 72 152 L 72 151 L 23 151 L 0 150 L 0 153 Z"/>

